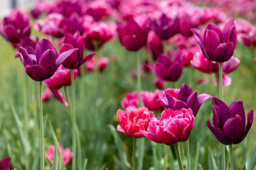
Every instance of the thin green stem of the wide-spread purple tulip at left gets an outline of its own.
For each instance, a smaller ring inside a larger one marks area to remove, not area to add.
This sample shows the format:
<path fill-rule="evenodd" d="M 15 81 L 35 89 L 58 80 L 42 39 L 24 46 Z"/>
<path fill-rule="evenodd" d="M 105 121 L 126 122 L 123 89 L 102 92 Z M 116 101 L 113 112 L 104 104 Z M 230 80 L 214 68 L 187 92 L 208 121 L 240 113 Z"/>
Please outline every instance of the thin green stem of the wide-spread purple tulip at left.
<path fill-rule="evenodd" d="M 44 170 L 42 81 L 39 83 L 40 166 Z"/>

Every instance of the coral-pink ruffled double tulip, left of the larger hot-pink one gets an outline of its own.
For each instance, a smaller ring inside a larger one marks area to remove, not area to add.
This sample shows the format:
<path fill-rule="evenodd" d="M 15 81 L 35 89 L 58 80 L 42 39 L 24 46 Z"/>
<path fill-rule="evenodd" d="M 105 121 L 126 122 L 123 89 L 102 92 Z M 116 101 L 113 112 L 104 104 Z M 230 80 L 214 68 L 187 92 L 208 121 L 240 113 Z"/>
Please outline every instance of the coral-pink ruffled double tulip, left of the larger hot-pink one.
<path fill-rule="evenodd" d="M 117 130 L 124 132 L 127 136 L 144 137 L 140 130 L 146 130 L 149 126 L 149 120 L 154 114 L 147 108 L 128 107 L 125 111 L 117 111 L 119 125 Z"/>

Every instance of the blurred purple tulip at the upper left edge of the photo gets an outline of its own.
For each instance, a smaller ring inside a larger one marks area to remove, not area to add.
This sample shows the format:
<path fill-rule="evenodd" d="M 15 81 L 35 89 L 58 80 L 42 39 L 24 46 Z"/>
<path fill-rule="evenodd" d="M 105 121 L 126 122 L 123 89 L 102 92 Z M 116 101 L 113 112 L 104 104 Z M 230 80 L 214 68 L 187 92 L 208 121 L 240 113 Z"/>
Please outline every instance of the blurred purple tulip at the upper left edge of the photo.
<path fill-rule="evenodd" d="M 31 34 L 28 16 L 18 9 L 12 11 L 10 16 L 4 18 L 0 34 L 15 46 L 21 38 L 29 37 Z"/>

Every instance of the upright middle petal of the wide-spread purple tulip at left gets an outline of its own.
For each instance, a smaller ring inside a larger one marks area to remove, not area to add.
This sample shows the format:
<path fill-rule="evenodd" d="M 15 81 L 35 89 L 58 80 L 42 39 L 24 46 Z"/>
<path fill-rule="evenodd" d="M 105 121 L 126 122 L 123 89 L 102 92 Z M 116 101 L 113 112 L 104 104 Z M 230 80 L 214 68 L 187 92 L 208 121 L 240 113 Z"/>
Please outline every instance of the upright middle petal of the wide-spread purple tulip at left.
<path fill-rule="evenodd" d="M 39 65 L 46 69 L 46 74 L 53 74 L 55 72 L 56 56 L 55 50 L 48 49 L 40 57 Z"/>

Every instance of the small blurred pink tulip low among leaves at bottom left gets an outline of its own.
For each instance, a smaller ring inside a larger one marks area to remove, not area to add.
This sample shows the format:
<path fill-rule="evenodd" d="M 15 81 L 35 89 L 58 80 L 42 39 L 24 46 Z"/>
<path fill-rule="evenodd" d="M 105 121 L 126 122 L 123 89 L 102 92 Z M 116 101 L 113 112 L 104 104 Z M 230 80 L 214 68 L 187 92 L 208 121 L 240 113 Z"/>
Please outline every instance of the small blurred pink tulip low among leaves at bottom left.
<path fill-rule="evenodd" d="M 73 157 L 73 152 L 70 152 L 70 149 L 63 149 L 62 145 L 59 145 L 59 146 L 60 146 L 60 152 L 63 157 L 63 162 L 64 162 L 65 166 L 67 166 Z M 46 151 L 46 156 L 48 157 L 48 159 L 50 160 L 51 163 L 53 163 L 54 152 L 55 152 L 54 145 L 50 145 Z"/>

